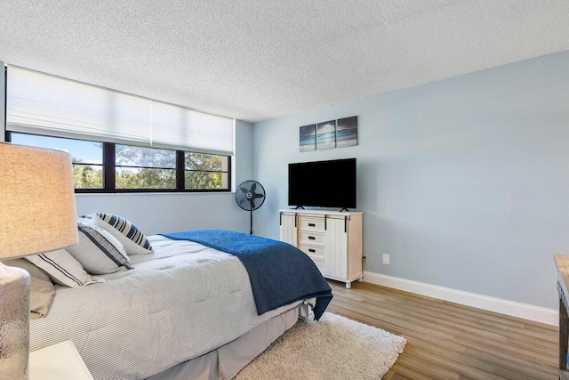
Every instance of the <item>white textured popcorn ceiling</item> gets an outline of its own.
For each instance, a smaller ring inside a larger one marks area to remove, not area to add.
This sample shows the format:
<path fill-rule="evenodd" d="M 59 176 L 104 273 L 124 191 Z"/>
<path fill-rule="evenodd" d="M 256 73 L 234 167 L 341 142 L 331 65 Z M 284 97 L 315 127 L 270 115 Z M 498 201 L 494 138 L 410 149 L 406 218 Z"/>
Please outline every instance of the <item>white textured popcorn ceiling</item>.
<path fill-rule="evenodd" d="M 3 0 L 0 61 L 256 122 L 569 49 L 569 0 Z"/>

